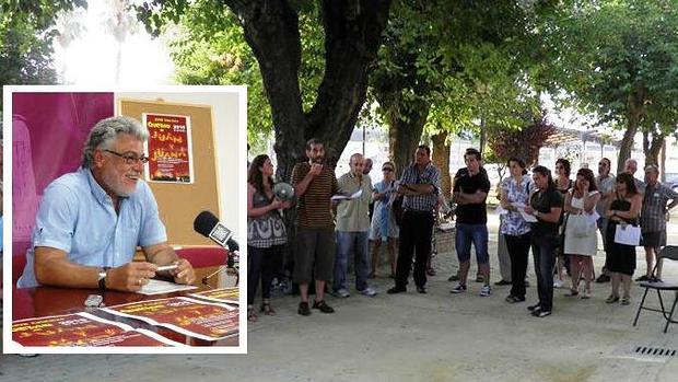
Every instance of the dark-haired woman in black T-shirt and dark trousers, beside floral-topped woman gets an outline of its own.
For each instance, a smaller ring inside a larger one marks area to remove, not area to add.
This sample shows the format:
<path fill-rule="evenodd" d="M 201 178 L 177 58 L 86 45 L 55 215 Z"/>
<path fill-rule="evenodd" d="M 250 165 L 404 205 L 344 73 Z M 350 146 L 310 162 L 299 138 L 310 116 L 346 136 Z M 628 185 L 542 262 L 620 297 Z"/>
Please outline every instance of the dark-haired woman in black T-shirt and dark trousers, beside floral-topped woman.
<path fill-rule="evenodd" d="M 531 246 L 539 302 L 527 309 L 536 317 L 546 317 L 553 309 L 553 263 L 563 201 L 561 194 L 556 189 L 549 169 L 542 165 L 536 166 L 533 170 L 533 182 L 536 190 L 531 193 L 525 212 L 531 213 L 537 219 L 531 223 Z"/>

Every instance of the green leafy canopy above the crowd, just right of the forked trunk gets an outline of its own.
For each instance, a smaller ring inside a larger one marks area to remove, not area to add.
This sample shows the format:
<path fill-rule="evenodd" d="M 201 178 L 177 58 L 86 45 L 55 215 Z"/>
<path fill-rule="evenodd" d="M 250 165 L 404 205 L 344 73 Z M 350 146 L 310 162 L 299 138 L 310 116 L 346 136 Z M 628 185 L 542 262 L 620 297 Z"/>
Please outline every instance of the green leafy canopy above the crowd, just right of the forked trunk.
<path fill-rule="evenodd" d="M 543 2 L 540 2 L 543 3 Z M 371 74 L 381 112 L 430 107 L 428 134 L 517 128 L 538 102 L 528 76 L 534 7 L 507 1 L 399 2 Z"/>

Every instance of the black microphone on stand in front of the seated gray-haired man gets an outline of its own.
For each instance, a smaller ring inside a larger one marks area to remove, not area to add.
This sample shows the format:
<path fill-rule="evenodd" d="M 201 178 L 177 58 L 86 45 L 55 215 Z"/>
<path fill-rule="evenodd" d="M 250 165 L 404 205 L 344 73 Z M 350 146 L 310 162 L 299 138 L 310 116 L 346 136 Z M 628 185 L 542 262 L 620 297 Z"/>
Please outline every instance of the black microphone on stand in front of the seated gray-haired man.
<path fill-rule="evenodd" d="M 224 225 L 219 219 L 214 216 L 214 213 L 210 211 L 202 211 L 198 213 L 196 220 L 194 220 L 194 230 L 201 235 L 211 239 L 217 244 L 223 246 L 229 252 L 233 253 L 233 255 L 229 254 L 229 258 L 226 261 L 226 265 L 222 265 L 210 275 L 207 275 L 202 278 L 202 283 L 209 286 L 207 282 L 208 279 L 218 273 L 222 271 L 224 267 L 233 268 L 236 270 L 235 274 L 235 286 L 239 283 L 239 245 L 232 238 L 233 232 Z"/>

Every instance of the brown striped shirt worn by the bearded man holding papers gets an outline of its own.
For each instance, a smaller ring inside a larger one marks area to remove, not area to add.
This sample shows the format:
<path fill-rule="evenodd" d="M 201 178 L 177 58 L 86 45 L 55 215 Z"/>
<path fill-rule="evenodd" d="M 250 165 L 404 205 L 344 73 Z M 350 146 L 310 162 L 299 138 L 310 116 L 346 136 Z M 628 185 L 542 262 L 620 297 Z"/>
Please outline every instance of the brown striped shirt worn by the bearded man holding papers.
<path fill-rule="evenodd" d="M 300 184 L 308 171 L 308 162 L 297 163 L 292 170 L 292 186 Z M 316 175 L 306 193 L 299 198 L 296 223 L 301 228 L 335 228 L 329 199 L 339 192 L 335 172 L 327 165 Z"/>

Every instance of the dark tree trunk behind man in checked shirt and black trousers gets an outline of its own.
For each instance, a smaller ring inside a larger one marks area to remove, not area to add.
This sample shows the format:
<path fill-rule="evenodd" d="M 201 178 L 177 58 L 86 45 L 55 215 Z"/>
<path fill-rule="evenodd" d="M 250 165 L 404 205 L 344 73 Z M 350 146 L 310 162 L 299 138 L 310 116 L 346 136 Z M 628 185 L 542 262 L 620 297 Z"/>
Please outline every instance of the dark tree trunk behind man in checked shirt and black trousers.
<path fill-rule="evenodd" d="M 396 164 L 398 178 L 402 174 L 402 169 L 410 165 L 414 160 L 414 152 L 428 117 L 429 106 L 408 109 L 407 113 L 399 111 L 386 114 L 388 149 L 391 161 Z"/>

